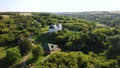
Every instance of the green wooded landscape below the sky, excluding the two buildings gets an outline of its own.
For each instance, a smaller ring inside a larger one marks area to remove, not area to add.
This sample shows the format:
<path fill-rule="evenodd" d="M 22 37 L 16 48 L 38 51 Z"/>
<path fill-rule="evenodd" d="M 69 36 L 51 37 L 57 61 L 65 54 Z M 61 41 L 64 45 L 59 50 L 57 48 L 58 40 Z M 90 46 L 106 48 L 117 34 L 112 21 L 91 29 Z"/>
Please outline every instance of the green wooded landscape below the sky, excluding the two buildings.
<path fill-rule="evenodd" d="M 0 13 L 0 68 L 120 68 L 120 13 Z M 62 30 L 48 32 L 53 24 Z M 61 51 L 45 53 L 44 43 Z M 25 61 L 25 65 L 22 63 Z"/>

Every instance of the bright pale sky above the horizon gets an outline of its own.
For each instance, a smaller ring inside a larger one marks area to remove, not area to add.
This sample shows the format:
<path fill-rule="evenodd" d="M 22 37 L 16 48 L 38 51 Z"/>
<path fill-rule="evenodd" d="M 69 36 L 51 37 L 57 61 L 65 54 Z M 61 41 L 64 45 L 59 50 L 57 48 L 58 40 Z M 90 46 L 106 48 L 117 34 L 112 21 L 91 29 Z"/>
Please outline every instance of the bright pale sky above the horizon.
<path fill-rule="evenodd" d="M 0 0 L 0 12 L 119 11 L 120 0 Z"/>

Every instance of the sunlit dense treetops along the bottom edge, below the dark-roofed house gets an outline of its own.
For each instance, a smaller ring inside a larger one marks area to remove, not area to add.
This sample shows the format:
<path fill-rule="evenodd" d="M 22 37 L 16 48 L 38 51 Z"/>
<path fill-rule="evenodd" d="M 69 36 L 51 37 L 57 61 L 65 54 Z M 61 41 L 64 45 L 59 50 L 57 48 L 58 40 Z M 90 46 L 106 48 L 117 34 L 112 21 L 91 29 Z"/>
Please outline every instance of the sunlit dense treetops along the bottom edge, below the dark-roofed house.
<path fill-rule="evenodd" d="M 41 65 L 40 65 L 41 64 Z M 42 68 L 118 68 L 116 60 L 106 60 L 105 57 L 90 52 L 83 54 L 82 52 L 56 52 L 50 55 L 35 67 Z"/>

